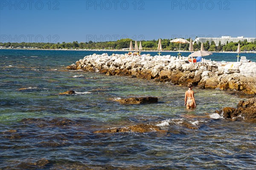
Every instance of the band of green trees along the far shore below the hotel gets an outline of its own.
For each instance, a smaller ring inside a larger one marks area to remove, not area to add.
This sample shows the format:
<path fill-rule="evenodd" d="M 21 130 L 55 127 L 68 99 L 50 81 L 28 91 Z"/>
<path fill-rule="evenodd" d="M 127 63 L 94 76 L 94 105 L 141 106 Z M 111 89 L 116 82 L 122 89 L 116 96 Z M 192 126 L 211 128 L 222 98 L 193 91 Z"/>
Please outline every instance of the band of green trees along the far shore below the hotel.
<path fill-rule="evenodd" d="M 172 40 L 172 39 L 171 39 Z M 190 38 L 187 39 L 190 41 Z M 38 48 L 38 49 L 123 49 L 129 48 L 130 41 L 135 43 L 131 39 L 121 39 L 117 41 L 108 41 L 108 42 L 62 42 L 62 43 L 47 43 L 47 42 L 0 42 L 0 46 L 4 48 Z M 143 50 L 157 50 L 159 40 L 148 40 L 141 41 Z M 139 42 L 138 42 L 139 43 Z M 241 51 L 256 51 L 256 42 L 247 42 L 247 40 L 239 42 L 227 42 L 226 45 L 221 45 L 221 42 L 218 45 L 214 41 L 209 43 L 209 41 L 204 43 L 205 51 L 236 51 L 237 46 L 240 43 Z M 161 44 L 163 51 L 178 51 L 179 48 L 182 51 L 189 51 L 189 44 L 179 44 L 172 43 L 170 39 L 161 39 Z M 193 44 L 194 51 L 198 51 L 201 48 L 201 42 L 194 42 Z"/>

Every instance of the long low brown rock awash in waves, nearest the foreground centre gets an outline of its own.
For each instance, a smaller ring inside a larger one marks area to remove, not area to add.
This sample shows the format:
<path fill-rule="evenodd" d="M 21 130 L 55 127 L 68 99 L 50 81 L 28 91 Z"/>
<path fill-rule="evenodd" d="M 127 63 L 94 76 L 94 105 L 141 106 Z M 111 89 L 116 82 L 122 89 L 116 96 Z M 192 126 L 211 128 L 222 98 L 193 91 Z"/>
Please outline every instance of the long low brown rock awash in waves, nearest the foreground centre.
<path fill-rule="evenodd" d="M 155 125 L 132 125 L 128 127 L 114 127 L 109 129 L 97 130 L 93 133 L 118 133 L 118 132 L 139 132 L 139 133 L 148 133 L 148 132 L 160 132 L 165 133 L 166 130 L 162 130 L 160 127 Z"/>

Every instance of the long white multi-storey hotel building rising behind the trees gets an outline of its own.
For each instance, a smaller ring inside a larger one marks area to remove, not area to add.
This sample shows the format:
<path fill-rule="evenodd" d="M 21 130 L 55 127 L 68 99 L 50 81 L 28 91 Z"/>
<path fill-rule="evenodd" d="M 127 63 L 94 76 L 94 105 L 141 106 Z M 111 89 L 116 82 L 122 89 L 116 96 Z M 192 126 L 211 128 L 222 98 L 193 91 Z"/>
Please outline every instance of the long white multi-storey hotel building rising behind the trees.
<path fill-rule="evenodd" d="M 239 40 L 240 41 L 247 40 L 247 42 L 254 42 L 254 41 L 256 41 L 256 38 L 244 38 L 244 36 L 237 37 L 237 38 L 232 38 L 230 36 L 221 36 L 221 38 L 211 38 L 211 37 L 199 38 L 199 37 L 197 37 L 195 39 L 196 42 L 203 42 L 203 43 L 205 43 L 206 41 L 209 41 L 209 44 L 211 44 L 211 42 L 214 41 L 216 46 L 218 46 L 219 41 L 221 41 L 221 45 L 226 45 L 227 41 L 228 42 L 239 42 Z"/>

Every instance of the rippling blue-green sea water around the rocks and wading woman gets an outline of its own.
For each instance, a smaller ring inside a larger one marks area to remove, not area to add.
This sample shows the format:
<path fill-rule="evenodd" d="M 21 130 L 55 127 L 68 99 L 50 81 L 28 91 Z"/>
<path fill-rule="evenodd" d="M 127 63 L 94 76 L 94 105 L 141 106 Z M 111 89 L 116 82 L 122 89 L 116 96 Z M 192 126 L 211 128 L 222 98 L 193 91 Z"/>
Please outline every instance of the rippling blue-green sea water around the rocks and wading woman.
<path fill-rule="evenodd" d="M 256 125 L 213 114 L 241 99 L 195 88 L 198 108 L 188 111 L 184 87 L 65 69 L 93 53 L 102 51 L 0 50 L 0 169 L 256 167 Z M 58 95 L 67 90 L 78 94 Z M 159 102 L 113 101 L 128 96 L 157 96 Z M 142 123 L 167 133 L 93 133 Z"/>

